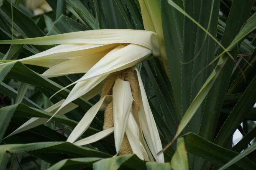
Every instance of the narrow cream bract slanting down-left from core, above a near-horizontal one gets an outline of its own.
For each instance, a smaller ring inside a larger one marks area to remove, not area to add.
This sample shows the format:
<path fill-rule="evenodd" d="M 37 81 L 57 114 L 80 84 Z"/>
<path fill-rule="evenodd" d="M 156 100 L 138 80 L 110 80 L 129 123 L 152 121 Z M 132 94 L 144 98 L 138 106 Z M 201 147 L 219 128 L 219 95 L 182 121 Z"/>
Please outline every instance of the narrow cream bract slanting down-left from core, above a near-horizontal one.
<path fill-rule="evenodd" d="M 72 133 L 69 135 L 67 142 L 73 143 L 75 140 L 77 140 L 77 138 L 79 138 L 87 130 L 87 128 L 89 128 L 97 112 L 99 110 L 105 109 L 105 107 L 107 107 L 108 103 L 111 101 L 112 96 L 104 96 L 95 105 L 93 105 L 85 113 L 84 117 L 79 121 Z"/>

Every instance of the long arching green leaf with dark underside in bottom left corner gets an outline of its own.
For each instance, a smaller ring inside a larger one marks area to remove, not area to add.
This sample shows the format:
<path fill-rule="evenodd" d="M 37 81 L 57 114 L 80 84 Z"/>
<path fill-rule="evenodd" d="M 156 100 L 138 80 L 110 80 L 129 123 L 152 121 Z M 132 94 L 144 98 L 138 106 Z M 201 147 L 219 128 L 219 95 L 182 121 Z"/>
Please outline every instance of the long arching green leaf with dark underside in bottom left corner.
<path fill-rule="evenodd" d="M 56 163 L 63 157 L 98 157 L 108 158 L 111 155 L 68 142 L 41 142 L 28 144 L 11 144 L 0 146 L 0 170 L 5 170 L 7 161 L 14 153 L 27 152 L 49 163 Z M 51 152 L 51 154 L 49 154 Z"/>

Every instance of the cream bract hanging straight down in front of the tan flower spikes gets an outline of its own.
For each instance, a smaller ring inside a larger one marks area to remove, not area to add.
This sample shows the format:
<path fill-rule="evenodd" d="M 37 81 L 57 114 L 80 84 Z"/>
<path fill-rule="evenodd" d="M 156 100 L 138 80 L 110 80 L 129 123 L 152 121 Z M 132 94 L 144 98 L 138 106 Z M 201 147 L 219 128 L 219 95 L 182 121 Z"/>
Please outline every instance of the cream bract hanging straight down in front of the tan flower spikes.
<path fill-rule="evenodd" d="M 113 87 L 113 116 L 115 150 L 118 153 L 123 142 L 128 117 L 131 114 L 133 96 L 130 83 L 121 79 L 115 80 Z"/>

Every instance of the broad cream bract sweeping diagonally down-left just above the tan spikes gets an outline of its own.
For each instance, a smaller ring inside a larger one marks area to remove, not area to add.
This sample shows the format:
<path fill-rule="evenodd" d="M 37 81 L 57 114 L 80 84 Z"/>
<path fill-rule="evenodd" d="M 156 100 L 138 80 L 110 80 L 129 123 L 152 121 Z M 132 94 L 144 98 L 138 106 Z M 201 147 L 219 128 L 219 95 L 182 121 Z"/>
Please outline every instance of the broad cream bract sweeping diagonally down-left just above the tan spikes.
<path fill-rule="evenodd" d="M 94 85 L 105 79 L 105 77 L 110 73 L 132 67 L 138 62 L 145 60 L 149 55 L 151 55 L 151 50 L 139 45 L 130 44 L 127 46 L 120 45 L 116 47 L 107 55 L 102 57 L 102 59 L 97 62 L 83 77 L 72 83 L 77 84 L 71 90 L 61 107 L 87 93 L 92 87 L 94 87 Z"/>

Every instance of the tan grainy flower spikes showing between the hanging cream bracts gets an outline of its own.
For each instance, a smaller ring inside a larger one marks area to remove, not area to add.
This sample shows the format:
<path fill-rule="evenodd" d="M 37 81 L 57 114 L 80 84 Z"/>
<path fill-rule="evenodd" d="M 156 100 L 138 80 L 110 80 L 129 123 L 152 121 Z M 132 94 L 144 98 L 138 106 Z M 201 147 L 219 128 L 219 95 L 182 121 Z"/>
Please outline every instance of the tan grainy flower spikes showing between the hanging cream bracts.
<path fill-rule="evenodd" d="M 104 84 L 102 88 L 102 95 L 101 98 L 105 95 L 113 95 L 113 86 L 115 85 L 116 79 L 122 79 L 124 81 L 128 81 L 131 86 L 131 92 L 133 95 L 133 106 L 131 112 L 136 109 L 138 111 L 139 106 L 139 85 L 138 85 L 138 78 L 136 75 L 136 71 L 132 68 L 127 68 L 125 70 L 116 72 L 114 75 L 112 75 Z M 104 125 L 103 130 L 112 128 L 114 126 L 114 119 L 113 119 L 113 101 L 108 104 L 108 106 L 105 109 L 104 112 Z M 129 143 L 129 140 L 127 138 L 127 135 L 124 134 L 123 142 L 120 147 L 119 154 L 125 155 L 125 154 L 131 154 L 133 153 L 131 149 L 131 145 Z"/>

